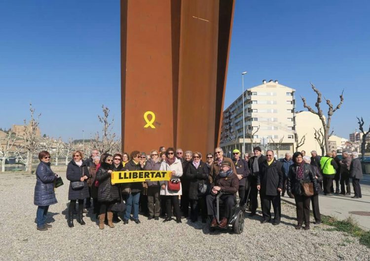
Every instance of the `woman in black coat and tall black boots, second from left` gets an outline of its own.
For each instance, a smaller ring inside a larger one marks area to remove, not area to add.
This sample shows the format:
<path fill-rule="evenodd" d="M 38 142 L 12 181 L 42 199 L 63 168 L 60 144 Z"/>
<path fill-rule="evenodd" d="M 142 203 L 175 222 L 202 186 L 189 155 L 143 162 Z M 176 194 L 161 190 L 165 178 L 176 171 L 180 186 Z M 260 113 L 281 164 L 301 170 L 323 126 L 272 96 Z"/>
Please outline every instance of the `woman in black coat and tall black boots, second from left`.
<path fill-rule="evenodd" d="M 89 188 L 87 185 L 87 179 L 90 178 L 89 170 L 87 168 L 87 163 L 82 160 L 83 153 L 82 151 L 76 150 L 73 154 L 73 159 L 67 166 L 67 179 L 70 182 L 70 188 L 68 192 L 68 199 L 70 201 L 70 206 L 68 208 L 68 227 L 73 228 L 73 211 L 76 207 L 76 201 L 78 200 L 78 213 L 77 213 L 77 222 L 80 225 L 85 225 L 86 223 L 83 221 L 82 211 L 83 211 L 83 200 L 86 197 L 89 197 Z M 74 181 L 81 181 L 83 182 L 82 188 L 74 189 L 72 187 L 72 182 Z"/>

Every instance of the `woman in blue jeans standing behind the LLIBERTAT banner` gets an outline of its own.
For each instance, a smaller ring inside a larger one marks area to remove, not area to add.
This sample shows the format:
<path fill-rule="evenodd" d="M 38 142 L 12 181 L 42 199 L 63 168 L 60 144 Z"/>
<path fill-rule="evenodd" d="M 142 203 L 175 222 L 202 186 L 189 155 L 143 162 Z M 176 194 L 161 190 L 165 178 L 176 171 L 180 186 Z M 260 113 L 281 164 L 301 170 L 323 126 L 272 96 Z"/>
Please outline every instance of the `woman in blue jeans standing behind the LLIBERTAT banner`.
<path fill-rule="evenodd" d="M 130 154 L 131 160 L 125 164 L 126 170 L 143 170 L 140 166 L 140 151 L 133 151 Z M 123 216 L 123 224 L 128 224 L 128 220 L 140 224 L 139 220 L 139 200 L 140 192 L 143 189 L 142 182 L 131 182 L 122 184 L 122 192 L 126 195 L 126 212 Z M 131 208 L 134 207 L 134 215 L 131 218 Z"/>

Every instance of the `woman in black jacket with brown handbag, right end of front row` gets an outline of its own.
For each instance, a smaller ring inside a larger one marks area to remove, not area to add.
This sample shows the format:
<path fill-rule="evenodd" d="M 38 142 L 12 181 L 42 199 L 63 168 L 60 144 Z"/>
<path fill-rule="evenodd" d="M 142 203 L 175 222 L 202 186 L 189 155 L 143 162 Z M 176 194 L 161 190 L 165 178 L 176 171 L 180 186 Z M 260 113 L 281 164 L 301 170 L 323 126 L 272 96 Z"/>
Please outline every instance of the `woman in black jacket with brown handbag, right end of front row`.
<path fill-rule="evenodd" d="M 303 162 L 303 155 L 300 152 L 293 154 L 293 165 L 289 168 L 287 191 L 294 196 L 296 200 L 297 222 L 296 229 L 301 229 L 304 221 L 303 229 L 310 229 L 310 196 L 303 194 L 302 182 L 312 182 L 314 193 L 319 193 L 319 186 L 312 167 L 308 163 Z"/>

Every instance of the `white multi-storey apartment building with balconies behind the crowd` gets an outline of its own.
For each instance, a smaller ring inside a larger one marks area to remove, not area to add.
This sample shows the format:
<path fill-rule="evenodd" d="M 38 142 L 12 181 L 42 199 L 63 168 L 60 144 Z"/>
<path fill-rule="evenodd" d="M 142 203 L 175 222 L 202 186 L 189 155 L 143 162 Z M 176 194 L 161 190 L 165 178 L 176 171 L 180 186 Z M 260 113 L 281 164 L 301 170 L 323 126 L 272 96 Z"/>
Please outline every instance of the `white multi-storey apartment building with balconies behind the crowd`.
<path fill-rule="evenodd" d="M 263 152 L 279 150 L 278 158 L 293 152 L 295 146 L 295 89 L 278 81 L 262 81 L 244 92 L 245 152 L 260 146 Z M 252 144 L 253 143 L 253 144 Z M 242 95 L 223 112 L 221 147 L 230 156 L 233 149 L 243 151 Z"/>

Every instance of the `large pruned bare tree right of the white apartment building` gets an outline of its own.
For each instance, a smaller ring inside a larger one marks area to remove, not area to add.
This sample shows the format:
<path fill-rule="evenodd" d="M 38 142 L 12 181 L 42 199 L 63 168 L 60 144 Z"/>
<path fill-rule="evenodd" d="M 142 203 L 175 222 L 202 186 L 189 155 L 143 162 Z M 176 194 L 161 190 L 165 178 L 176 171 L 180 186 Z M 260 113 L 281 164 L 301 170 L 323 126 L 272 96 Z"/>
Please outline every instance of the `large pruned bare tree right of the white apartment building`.
<path fill-rule="evenodd" d="M 316 89 L 316 87 L 312 83 L 311 83 L 311 88 L 317 94 L 317 100 L 316 100 L 316 103 L 315 103 L 315 107 L 317 108 L 317 111 L 313 110 L 309 105 L 307 105 L 307 102 L 306 102 L 305 98 L 303 98 L 303 97 L 300 97 L 300 98 L 303 101 L 303 107 L 305 107 L 309 112 L 319 116 L 319 118 L 321 120 L 321 123 L 323 125 L 323 129 L 324 129 L 324 133 L 323 133 L 324 146 L 325 146 L 326 151 L 328 152 L 329 151 L 329 137 L 330 137 L 329 132 L 330 132 L 330 125 L 331 125 L 331 122 L 332 122 L 332 116 L 333 116 L 334 112 L 336 110 L 340 109 L 340 106 L 343 104 L 343 101 L 344 101 L 343 91 L 344 90 L 342 91 L 341 95 L 339 96 L 340 101 L 339 101 L 338 105 L 336 105 L 335 108 L 333 107 L 333 103 L 330 101 L 330 99 L 326 99 L 324 97 L 324 99 L 326 100 L 326 104 L 329 107 L 328 117 L 325 120 L 325 116 L 324 116 L 324 113 L 323 113 L 323 111 L 321 109 L 321 105 L 320 105 L 320 103 L 322 102 L 322 94 L 318 89 Z"/>

